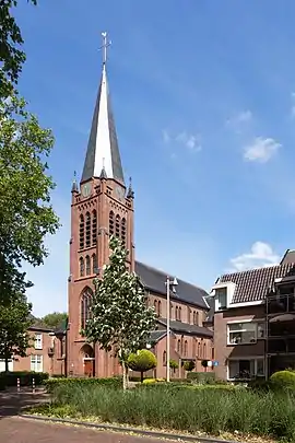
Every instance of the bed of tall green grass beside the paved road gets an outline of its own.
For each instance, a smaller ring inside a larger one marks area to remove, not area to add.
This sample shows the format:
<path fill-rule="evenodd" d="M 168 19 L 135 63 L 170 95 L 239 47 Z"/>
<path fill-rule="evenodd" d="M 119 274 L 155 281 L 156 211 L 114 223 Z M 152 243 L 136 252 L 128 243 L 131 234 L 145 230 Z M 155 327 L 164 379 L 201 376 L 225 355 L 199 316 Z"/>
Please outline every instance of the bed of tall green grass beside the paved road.
<path fill-rule="evenodd" d="M 231 390 L 175 389 L 158 384 L 122 392 L 106 386 L 59 385 L 52 404 L 38 411 L 57 417 L 97 417 L 105 422 L 210 434 L 238 431 L 295 440 L 295 400 L 288 395 Z"/>

